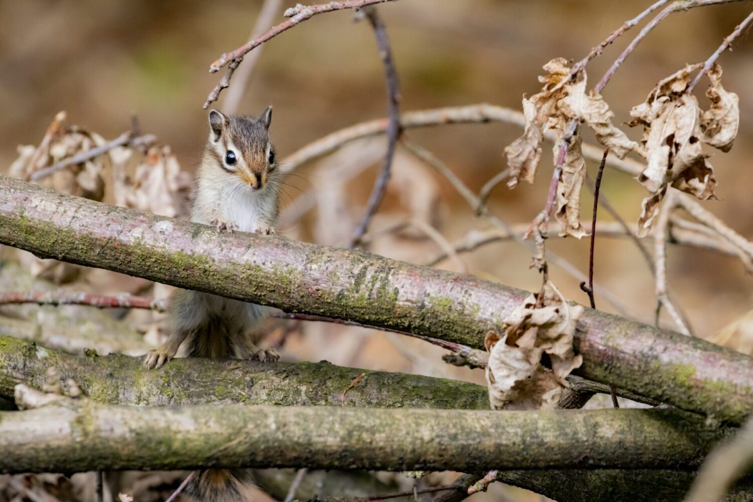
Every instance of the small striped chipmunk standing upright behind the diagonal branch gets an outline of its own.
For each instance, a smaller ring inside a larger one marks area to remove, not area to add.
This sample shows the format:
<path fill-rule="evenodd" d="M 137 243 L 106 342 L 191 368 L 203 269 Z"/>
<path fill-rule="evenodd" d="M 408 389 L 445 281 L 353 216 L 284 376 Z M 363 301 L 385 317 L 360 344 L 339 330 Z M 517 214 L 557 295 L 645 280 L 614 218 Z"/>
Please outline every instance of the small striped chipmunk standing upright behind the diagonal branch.
<path fill-rule="evenodd" d="M 218 232 L 275 233 L 280 177 L 268 130 L 272 107 L 261 117 L 226 116 L 209 112 L 209 140 L 194 185 L 191 221 Z M 159 368 L 187 340 L 188 357 L 276 360 L 276 351 L 256 347 L 259 325 L 267 309 L 254 303 L 200 291 L 175 290 L 168 306 L 169 338 L 148 351 L 144 366 Z M 187 487 L 197 500 L 245 500 L 242 485 L 248 471 L 200 470 Z"/>

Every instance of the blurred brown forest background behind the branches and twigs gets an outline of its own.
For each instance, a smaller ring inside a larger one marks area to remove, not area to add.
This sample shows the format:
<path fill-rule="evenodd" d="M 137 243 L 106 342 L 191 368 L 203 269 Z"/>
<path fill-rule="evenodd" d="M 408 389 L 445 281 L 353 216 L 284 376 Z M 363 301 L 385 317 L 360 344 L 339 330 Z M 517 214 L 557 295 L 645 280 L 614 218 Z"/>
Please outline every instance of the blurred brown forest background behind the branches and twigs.
<path fill-rule="evenodd" d="M 520 110 L 523 94 L 531 95 L 540 87 L 536 76 L 543 73 L 541 65 L 556 56 L 585 56 L 593 45 L 634 17 L 644 3 L 405 0 L 380 6 L 400 76 L 401 111 L 480 102 Z M 170 145 L 181 169 L 193 172 L 208 133 L 201 105 L 222 75 L 209 74 L 209 64 L 248 39 L 260 8 L 261 0 L 0 2 L 0 172 L 5 174 L 17 158 L 17 145 L 38 145 L 61 110 L 67 112 L 69 123 L 106 139 L 129 129 L 135 114 L 142 132 L 153 133 L 160 143 Z M 615 123 L 626 122 L 630 108 L 642 102 L 660 78 L 685 63 L 706 59 L 749 9 L 741 2 L 673 14 L 651 32 L 605 90 L 605 99 L 617 115 Z M 282 12 L 275 23 L 280 20 Z M 607 47 L 603 56 L 590 62 L 590 77 L 602 75 L 629 40 L 618 39 L 616 47 Z M 748 166 L 753 157 L 753 99 L 746 92 L 753 82 L 750 35 L 743 33 L 734 48 L 724 53 L 720 62 L 724 87 L 740 96 L 739 135 L 729 154 L 712 157 L 719 200 L 702 204 L 749 238 L 753 236 L 753 169 Z M 349 12 L 309 20 L 264 44 L 263 50 L 239 111 L 259 114 L 267 105 L 274 106 L 270 130 L 279 158 L 334 130 L 386 116 L 384 70 L 373 32 L 367 23 L 353 23 Z M 702 81 L 698 93 L 705 88 L 706 81 Z M 217 108 L 222 109 L 226 98 L 227 90 L 215 103 Z M 631 138 L 640 136 L 639 130 L 623 129 Z M 411 129 L 406 136 L 447 163 L 477 192 L 505 169 L 502 151 L 520 133 L 517 126 L 488 123 Z M 586 139 L 593 142 L 589 134 Z M 283 218 L 279 233 L 343 245 L 352 234 L 347 222 L 355 224 L 361 217 L 383 145 L 383 138 L 359 141 L 297 171 L 300 176 L 289 178 L 291 186 L 285 187 L 283 196 L 284 204 L 291 206 L 287 211 L 292 211 L 284 214 L 293 214 L 293 218 L 291 223 Z M 345 185 L 338 166 L 351 161 L 373 167 Z M 492 212 L 508 224 L 532 221 L 546 199 L 551 166 L 550 149 L 544 148 L 535 184 L 520 184 L 516 190 L 498 186 L 489 199 Z M 596 168 L 589 164 L 592 176 Z M 407 217 L 427 221 L 450 242 L 471 227 L 489 227 L 474 217 L 444 178 L 416 165 L 409 156 L 398 155 L 393 172 L 388 198 L 371 227 L 373 233 Z M 304 192 L 303 199 L 297 199 Z M 602 193 L 626 221 L 638 220 L 646 193 L 640 184 L 608 169 Z M 295 205 L 291 199 L 297 199 Z M 581 219 L 590 221 L 593 199 L 587 190 L 583 200 Z M 318 205 L 306 211 L 312 202 Z M 600 211 L 599 220 L 610 218 Z M 550 239 L 548 248 L 587 271 L 587 239 Z M 375 237 L 369 249 L 416 263 L 425 263 L 438 251 L 431 239 L 410 232 Z M 748 315 L 753 281 L 739 259 L 677 246 L 670 246 L 668 253 L 669 284 L 694 332 L 709 338 L 734 325 L 737 347 L 745 345 L 742 339 L 753 345 L 753 317 Z M 487 245 L 462 259 L 470 273 L 538 290 L 541 278 L 529 269 L 530 251 L 514 242 Z M 458 269 L 452 260 L 439 266 Z M 75 287 L 99 293 L 143 294 L 142 284 L 107 273 L 106 280 L 99 276 Z M 569 300 L 587 303 L 575 278 L 556 266 L 551 276 Z M 633 318 L 653 322 L 654 280 L 629 239 L 596 240 L 596 281 L 611 291 Z M 156 291 L 148 294 L 162 296 Z M 596 302 L 599 309 L 614 312 L 598 295 Z M 133 323 L 144 328 L 147 315 L 151 312 L 133 315 Z M 666 326 L 672 327 L 668 319 Z M 278 333 L 270 344 L 279 342 L 281 336 Z M 326 359 L 346 366 L 484 383 L 481 370 L 444 364 L 439 348 L 358 328 L 306 323 L 288 336 L 281 352 L 288 360 Z M 605 401 L 594 403 L 598 406 Z"/>

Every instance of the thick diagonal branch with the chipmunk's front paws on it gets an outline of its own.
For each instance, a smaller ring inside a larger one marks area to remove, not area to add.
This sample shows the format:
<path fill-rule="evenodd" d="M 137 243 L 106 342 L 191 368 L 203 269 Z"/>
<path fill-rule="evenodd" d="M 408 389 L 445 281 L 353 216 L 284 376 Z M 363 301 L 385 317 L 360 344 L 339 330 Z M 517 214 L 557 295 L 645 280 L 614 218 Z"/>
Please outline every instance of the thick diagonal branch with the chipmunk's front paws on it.
<path fill-rule="evenodd" d="M 528 295 L 471 275 L 116 208 L 0 178 L 0 242 L 225 297 L 483 347 Z M 679 333 L 587 309 L 581 376 L 742 423 L 753 359 Z"/>

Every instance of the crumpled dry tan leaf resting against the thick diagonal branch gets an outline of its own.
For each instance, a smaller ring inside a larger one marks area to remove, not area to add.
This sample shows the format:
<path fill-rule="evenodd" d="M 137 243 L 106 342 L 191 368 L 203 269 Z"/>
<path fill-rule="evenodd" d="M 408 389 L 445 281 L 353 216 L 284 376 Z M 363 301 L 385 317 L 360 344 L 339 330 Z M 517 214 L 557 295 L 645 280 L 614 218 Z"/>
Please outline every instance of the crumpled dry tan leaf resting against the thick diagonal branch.
<path fill-rule="evenodd" d="M 543 306 L 537 306 L 537 300 L 537 294 L 530 295 L 505 319 L 504 334 L 486 336 L 492 409 L 556 406 L 567 387 L 565 377 L 581 366 L 572 340 L 583 307 L 566 303 L 551 284 L 544 290 Z M 541 367 L 542 354 L 549 355 L 551 370 Z"/>

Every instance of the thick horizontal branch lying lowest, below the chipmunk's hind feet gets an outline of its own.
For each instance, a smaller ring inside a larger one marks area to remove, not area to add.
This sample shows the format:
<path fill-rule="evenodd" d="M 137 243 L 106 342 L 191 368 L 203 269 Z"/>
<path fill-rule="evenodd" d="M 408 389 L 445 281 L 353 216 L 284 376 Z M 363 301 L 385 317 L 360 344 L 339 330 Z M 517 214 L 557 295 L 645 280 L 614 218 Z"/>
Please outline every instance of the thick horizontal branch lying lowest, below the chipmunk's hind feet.
<path fill-rule="evenodd" d="M 16 397 L 19 406 L 32 409 L 0 412 L 2 473 L 302 465 L 466 472 L 692 470 L 731 432 L 673 409 L 154 408 L 72 400 L 23 385 Z"/>

